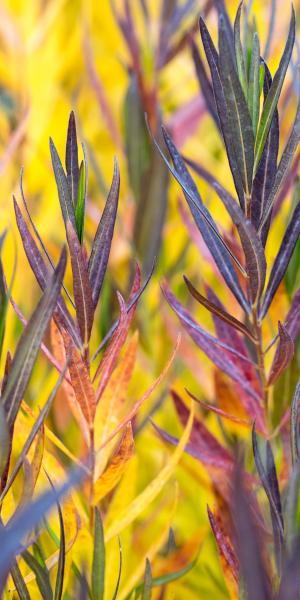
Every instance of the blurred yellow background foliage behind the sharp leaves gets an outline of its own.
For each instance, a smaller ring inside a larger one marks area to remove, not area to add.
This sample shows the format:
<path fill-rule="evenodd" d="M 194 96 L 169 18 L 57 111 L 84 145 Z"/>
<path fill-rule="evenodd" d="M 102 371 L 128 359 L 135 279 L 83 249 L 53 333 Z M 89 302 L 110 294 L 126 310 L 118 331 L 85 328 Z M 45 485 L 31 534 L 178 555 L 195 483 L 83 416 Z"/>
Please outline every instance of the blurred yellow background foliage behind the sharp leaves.
<path fill-rule="evenodd" d="M 169 4 L 171 7 L 172 2 Z M 120 204 L 109 273 L 92 341 L 95 348 L 117 315 L 115 291 L 119 289 L 125 296 L 128 293 L 134 260 L 139 261 L 145 275 L 156 256 L 155 272 L 139 303 L 136 317 L 140 345 L 130 388 L 133 399 L 140 396 L 161 371 L 180 330 L 163 299 L 162 279 L 166 278 L 172 290 L 186 303 L 183 273 L 200 284 L 203 281 L 211 283 L 220 297 L 225 302 L 228 300 L 203 252 L 201 240 L 197 236 L 196 240 L 191 239 L 179 187 L 169 180 L 161 160 L 153 159 L 154 152 L 143 119 L 143 113 L 147 112 L 154 129 L 161 119 L 184 154 L 199 160 L 233 192 L 219 136 L 199 92 L 189 47 L 189 36 L 192 36 L 200 49 L 197 20 L 203 11 L 216 39 L 216 11 L 212 4 L 204 0 L 190 2 L 188 14 L 175 23 L 168 37 L 166 31 L 161 36 L 160 0 L 148 3 L 148 14 L 143 2 L 129 0 L 139 42 L 145 91 L 141 98 L 132 74 L 132 53 L 117 22 L 118 15 L 124 15 L 123 0 L 115 0 L 113 8 L 109 0 L 0 1 L 0 222 L 1 230 L 8 230 L 4 248 L 8 280 L 16 269 L 13 296 L 28 317 L 40 293 L 27 266 L 14 222 L 12 195 L 20 199 L 20 170 L 24 168 L 24 191 L 31 214 L 56 260 L 64 239 L 64 226 L 52 173 L 49 136 L 62 156 L 68 117 L 73 109 L 78 134 L 85 143 L 89 160 L 86 229 L 90 240 L 104 206 L 115 155 L 121 171 Z M 299 0 L 294 4 L 299 16 Z M 238 2 L 226 0 L 226 6 L 233 17 Z M 262 44 L 267 39 L 270 8 L 269 1 L 258 0 L 252 5 Z M 275 68 L 281 55 L 289 18 L 289 3 L 277 0 L 271 69 Z M 295 64 L 297 59 L 296 51 Z M 288 93 L 289 86 L 294 86 L 292 93 Z M 295 71 L 290 70 L 281 99 L 282 139 L 295 112 L 296 86 Z M 147 171 L 149 156 L 152 167 Z M 147 172 L 144 179 L 143 171 Z M 226 230 L 229 226 L 226 214 L 215 203 L 214 195 L 203 183 L 200 189 L 207 206 Z M 282 215 L 275 222 L 268 245 L 269 264 L 276 254 L 288 218 L 288 203 L 283 207 Z M 161 239 L 157 235 L 160 230 Z M 279 294 L 272 307 L 274 314 L 285 311 L 287 302 L 286 294 Z M 193 310 L 201 324 L 211 329 L 209 315 L 201 309 L 197 312 L 195 307 Z M 272 328 L 272 323 L 268 326 Z M 21 325 L 10 308 L 5 350 L 14 350 L 20 331 Z M 54 381 L 53 370 L 41 357 L 28 393 L 34 406 L 44 402 Z M 148 416 L 151 414 L 157 424 L 180 435 L 169 395 L 171 387 L 182 394 L 184 388 L 189 387 L 199 397 L 213 400 L 212 366 L 184 337 L 171 371 L 139 414 L 136 454 L 109 507 L 108 524 L 117 517 L 120 506 L 129 504 L 169 459 L 172 450 L 158 439 Z M 51 420 L 57 435 L 64 436 L 67 446 L 76 455 L 80 432 L 70 423 L 59 397 Z M 209 416 L 207 422 L 220 436 L 215 417 Z M 234 431 L 234 426 L 230 427 Z M 47 452 L 51 464 L 51 446 Z M 55 463 L 54 468 L 58 469 L 58 464 Z M 177 564 L 170 563 L 170 567 L 184 566 L 199 548 L 200 554 L 194 569 L 168 586 L 164 598 L 229 597 L 207 522 L 206 505 L 213 501 L 210 486 L 200 463 L 184 456 L 155 503 L 122 532 L 124 563 L 120 598 L 126 597 L 131 581 L 142 577 L 146 556 L 153 559 L 154 573 L 159 573 L 170 526 L 182 548 Z M 79 562 L 89 543 L 88 534 L 82 527 L 72 549 Z M 108 544 L 108 573 L 115 573 L 117 557 L 118 546 L 113 539 Z M 111 598 L 113 589 L 114 579 L 108 577 L 106 598 Z"/>

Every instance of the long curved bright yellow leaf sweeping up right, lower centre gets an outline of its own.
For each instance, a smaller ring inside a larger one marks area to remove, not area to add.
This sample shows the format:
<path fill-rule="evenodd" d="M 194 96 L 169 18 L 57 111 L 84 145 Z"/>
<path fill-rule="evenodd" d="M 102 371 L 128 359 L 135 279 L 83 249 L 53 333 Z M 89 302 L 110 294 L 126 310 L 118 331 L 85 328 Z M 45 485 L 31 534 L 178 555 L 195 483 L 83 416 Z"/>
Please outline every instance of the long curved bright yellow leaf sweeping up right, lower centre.
<path fill-rule="evenodd" d="M 133 500 L 126 510 L 121 513 L 119 519 L 116 519 L 108 531 L 106 531 L 106 542 L 111 540 L 115 535 L 120 534 L 125 527 L 132 523 L 132 521 L 134 521 L 147 508 L 147 506 L 149 506 L 151 502 L 153 502 L 167 481 L 169 481 L 189 440 L 193 419 L 194 404 L 192 403 L 188 422 L 175 452 L 172 454 L 171 458 L 168 459 L 167 464 L 161 470 L 159 475 L 157 475 L 157 477 L 151 481 L 146 489 Z"/>

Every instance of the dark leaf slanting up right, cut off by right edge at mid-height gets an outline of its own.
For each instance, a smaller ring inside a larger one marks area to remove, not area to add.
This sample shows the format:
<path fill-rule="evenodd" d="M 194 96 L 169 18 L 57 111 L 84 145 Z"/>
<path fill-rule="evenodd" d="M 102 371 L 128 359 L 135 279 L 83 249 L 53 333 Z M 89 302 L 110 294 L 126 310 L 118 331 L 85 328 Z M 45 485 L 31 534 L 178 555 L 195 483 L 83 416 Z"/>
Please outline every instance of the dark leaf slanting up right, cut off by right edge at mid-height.
<path fill-rule="evenodd" d="M 279 252 L 276 256 L 272 271 L 269 277 L 267 289 L 263 298 L 259 316 L 261 319 L 267 314 L 275 293 L 285 275 L 291 256 L 294 252 L 297 240 L 300 234 L 300 202 L 298 202 L 290 223 L 284 234 Z"/>

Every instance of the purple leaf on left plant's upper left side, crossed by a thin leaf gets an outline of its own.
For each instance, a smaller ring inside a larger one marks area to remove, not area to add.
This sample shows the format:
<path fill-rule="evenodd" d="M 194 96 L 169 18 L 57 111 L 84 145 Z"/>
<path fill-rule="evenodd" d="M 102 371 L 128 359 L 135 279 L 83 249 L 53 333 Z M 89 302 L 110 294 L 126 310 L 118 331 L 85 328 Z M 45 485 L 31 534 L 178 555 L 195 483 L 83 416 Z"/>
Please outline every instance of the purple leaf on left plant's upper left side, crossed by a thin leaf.
<path fill-rule="evenodd" d="M 14 198 L 14 208 L 16 214 L 17 226 L 20 232 L 20 236 L 23 243 L 23 248 L 27 256 L 28 262 L 32 268 L 35 278 L 42 290 L 45 290 L 50 273 L 44 263 L 44 259 L 27 227 L 27 224 L 23 218 L 20 208 Z M 55 309 L 54 317 L 57 319 L 58 324 L 63 325 L 65 329 L 71 335 L 73 341 L 78 348 L 81 347 L 81 340 L 74 324 L 74 321 L 67 309 L 64 299 L 59 295 L 57 300 L 57 306 Z"/>

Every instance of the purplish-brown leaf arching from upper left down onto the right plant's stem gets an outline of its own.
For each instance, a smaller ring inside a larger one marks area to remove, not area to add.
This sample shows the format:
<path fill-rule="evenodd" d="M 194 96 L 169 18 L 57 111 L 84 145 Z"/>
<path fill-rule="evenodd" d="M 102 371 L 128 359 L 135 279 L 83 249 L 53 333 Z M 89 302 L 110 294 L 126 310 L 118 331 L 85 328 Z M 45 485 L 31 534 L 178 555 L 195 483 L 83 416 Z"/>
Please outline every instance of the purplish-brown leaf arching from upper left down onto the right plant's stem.
<path fill-rule="evenodd" d="M 229 192 L 200 165 L 190 160 L 188 164 L 216 190 L 237 227 L 246 259 L 251 302 L 252 304 L 256 304 L 263 291 L 266 277 L 266 259 L 261 241 L 253 225 L 246 219 Z"/>

